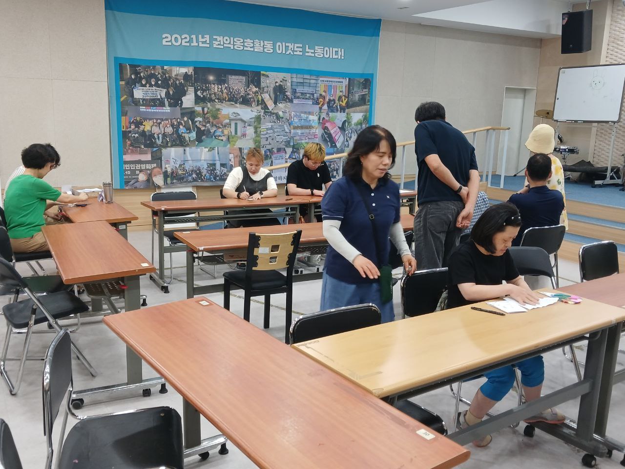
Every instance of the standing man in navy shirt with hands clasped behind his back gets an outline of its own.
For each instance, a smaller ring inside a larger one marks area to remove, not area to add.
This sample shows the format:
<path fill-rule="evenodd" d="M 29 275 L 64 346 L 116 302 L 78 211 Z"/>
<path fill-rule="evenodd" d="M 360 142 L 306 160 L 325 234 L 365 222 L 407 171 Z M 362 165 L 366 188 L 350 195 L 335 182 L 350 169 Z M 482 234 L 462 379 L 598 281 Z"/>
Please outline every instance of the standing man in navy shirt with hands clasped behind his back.
<path fill-rule="evenodd" d="M 414 119 L 419 175 L 414 256 L 419 270 L 441 268 L 471 223 L 479 191 L 475 149 L 445 120 L 445 108 L 419 104 Z"/>

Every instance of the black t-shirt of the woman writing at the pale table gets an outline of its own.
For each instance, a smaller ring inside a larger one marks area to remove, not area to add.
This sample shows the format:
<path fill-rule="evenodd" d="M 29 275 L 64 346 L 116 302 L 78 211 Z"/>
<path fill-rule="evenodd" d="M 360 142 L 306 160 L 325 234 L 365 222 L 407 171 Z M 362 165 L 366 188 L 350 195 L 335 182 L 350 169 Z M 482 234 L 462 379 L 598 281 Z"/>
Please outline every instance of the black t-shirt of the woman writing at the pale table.
<path fill-rule="evenodd" d="M 519 276 L 509 251 L 502 256 L 482 254 L 473 241 L 459 245 L 449 258 L 447 308 L 478 303 L 467 301 L 460 293 L 461 283 L 501 285 Z"/>

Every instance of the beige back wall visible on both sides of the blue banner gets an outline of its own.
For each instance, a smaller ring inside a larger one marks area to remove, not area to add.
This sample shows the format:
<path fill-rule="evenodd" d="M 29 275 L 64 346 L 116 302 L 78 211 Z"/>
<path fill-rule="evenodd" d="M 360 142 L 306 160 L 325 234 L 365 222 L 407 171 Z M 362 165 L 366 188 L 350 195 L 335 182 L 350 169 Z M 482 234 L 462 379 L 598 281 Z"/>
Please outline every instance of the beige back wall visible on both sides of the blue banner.
<path fill-rule="evenodd" d="M 103 0 L 3 2 L 0 44 L 0 181 L 36 141 L 61 153 L 51 184 L 109 180 Z M 539 48 L 539 39 L 383 21 L 376 121 L 411 140 L 416 106 L 435 99 L 457 128 L 498 125 L 504 86 L 536 86 Z"/>

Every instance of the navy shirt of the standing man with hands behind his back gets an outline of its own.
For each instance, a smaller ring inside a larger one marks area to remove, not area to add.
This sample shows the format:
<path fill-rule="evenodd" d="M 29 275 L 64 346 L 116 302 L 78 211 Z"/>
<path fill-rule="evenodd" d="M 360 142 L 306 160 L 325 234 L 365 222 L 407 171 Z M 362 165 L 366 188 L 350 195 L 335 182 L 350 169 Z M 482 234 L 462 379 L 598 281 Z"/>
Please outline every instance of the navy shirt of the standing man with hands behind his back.
<path fill-rule="evenodd" d="M 475 148 L 464 134 L 451 124 L 440 119 L 423 121 L 414 128 L 414 152 L 417 155 L 419 174 L 417 203 L 451 200 L 461 202 L 462 198 L 437 178 L 429 169 L 426 157 L 437 154 L 459 184 L 469 183 L 469 171 L 477 170 Z"/>

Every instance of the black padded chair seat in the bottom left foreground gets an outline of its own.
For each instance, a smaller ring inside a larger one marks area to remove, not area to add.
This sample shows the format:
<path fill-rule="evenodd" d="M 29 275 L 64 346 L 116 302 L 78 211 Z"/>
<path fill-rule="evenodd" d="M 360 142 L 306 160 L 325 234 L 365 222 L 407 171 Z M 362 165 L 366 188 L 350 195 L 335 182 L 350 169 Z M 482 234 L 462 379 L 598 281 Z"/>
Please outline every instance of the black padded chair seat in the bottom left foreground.
<path fill-rule="evenodd" d="M 180 415 L 154 407 L 88 417 L 69 430 L 59 461 L 63 469 L 183 469 Z"/>

